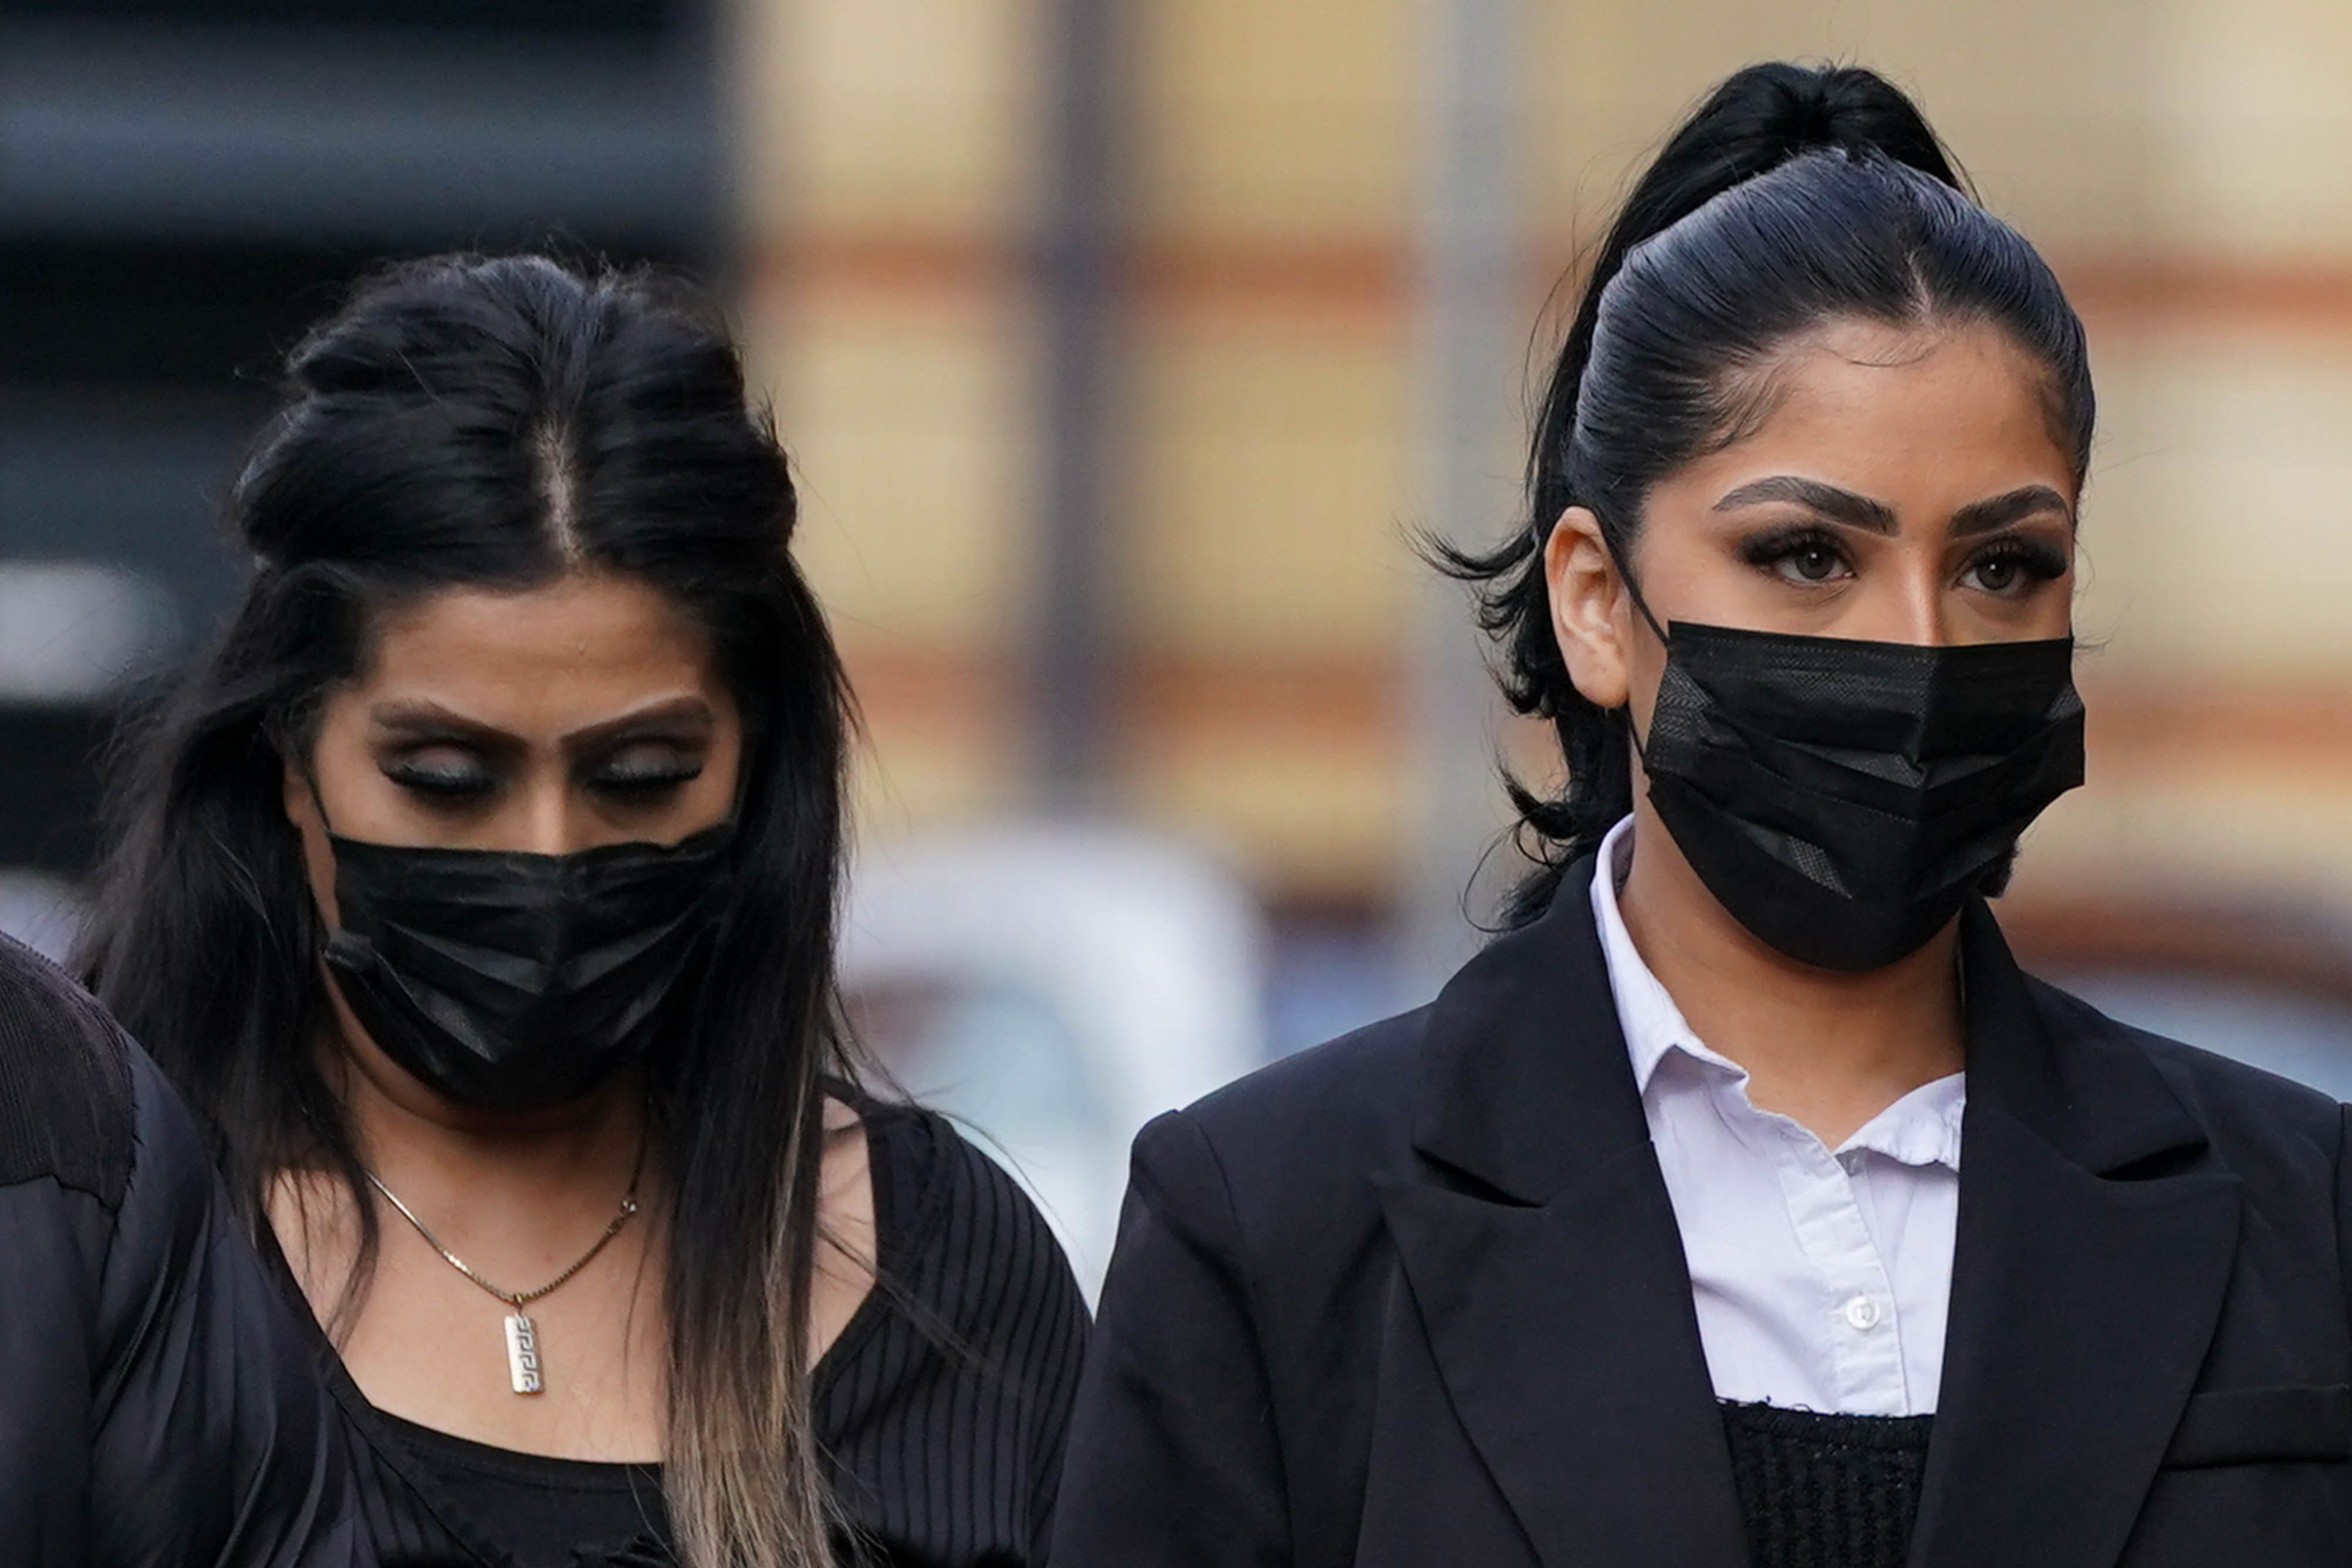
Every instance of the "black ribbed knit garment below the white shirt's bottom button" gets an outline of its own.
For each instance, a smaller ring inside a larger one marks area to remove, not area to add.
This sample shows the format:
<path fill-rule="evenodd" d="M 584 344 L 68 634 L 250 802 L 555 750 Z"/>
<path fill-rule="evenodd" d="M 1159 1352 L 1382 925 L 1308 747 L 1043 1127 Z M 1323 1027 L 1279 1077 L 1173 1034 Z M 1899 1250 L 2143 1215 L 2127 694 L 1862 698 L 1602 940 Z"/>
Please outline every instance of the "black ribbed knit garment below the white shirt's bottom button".
<path fill-rule="evenodd" d="M 1903 1568 L 1933 1427 L 1724 1401 L 1752 1568 Z"/>

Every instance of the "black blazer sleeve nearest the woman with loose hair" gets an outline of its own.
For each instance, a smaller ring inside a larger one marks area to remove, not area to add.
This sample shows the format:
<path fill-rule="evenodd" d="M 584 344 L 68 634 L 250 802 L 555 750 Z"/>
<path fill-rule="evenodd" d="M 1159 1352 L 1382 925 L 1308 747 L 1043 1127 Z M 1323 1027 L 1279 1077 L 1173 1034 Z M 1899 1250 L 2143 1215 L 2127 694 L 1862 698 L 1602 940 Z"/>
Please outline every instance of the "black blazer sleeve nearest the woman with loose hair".
<path fill-rule="evenodd" d="M 1171 1112 L 1136 1138 L 1070 1418 L 1054 1568 L 1289 1561 L 1240 1220 L 1209 1138 Z"/>

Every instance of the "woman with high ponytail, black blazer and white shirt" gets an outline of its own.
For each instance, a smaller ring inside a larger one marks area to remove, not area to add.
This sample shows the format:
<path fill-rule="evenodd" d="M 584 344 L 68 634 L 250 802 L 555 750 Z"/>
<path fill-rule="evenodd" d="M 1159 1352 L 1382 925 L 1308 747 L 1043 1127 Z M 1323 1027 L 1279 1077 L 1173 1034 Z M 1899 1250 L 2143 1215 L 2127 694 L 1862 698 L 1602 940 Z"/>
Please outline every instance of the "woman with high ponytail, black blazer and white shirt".
<path fill-rule="evenodd" d="M 2051 270 L 1755 66 L 1602 247 L 1479 590 L 1557 792 L 1435 1004 L 1136 1140 L 1056 1568 L 2352 1561 L 2345 1110 L 2023 976 L 2082 783 Z"/>

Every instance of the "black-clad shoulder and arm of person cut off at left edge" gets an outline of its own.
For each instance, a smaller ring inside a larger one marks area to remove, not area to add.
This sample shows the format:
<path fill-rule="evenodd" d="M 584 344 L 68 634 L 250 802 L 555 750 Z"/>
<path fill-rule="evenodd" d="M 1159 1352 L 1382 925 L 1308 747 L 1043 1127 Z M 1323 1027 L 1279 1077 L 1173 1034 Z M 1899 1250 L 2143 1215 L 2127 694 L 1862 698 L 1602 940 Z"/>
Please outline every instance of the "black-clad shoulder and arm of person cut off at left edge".
<path fill-rule="evenodd" d="M 155 1063 L 0 938 L 0 1559 L 372 1561 L 313 1340 Z"/>

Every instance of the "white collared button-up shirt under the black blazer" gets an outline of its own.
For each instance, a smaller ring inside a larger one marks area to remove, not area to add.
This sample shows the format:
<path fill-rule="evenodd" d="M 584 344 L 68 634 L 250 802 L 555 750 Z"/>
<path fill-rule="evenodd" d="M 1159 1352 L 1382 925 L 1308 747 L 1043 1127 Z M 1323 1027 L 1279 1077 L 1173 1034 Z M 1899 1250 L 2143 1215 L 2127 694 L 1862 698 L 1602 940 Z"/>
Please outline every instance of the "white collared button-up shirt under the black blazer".
<path fill-rule="evenodd" d="M 1717 1399 L 1929 1415 L 1943 1382 L 1966 1077 L 1922 1084 L 1830 1150 L 1748 1100 L 1618 914 L 1632 818 L 1602 839 L 1592 914 L 1649 1138 L 1691 1265 Z"/>

